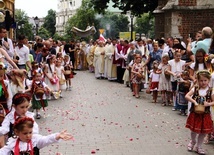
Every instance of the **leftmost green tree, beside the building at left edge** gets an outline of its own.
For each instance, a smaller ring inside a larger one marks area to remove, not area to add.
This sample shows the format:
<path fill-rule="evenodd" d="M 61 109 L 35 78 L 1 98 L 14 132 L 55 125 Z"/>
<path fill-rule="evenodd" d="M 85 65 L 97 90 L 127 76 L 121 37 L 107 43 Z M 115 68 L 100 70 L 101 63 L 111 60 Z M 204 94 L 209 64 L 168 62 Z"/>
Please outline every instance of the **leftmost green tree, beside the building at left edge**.
<path fill-rule="evenodd" d="M 19 35 L 25 35 L 29 40 L 33 39 L 33 25 L 29 23 L 27 14 L 21 9 L 15 10 L 16 38 Z"/>

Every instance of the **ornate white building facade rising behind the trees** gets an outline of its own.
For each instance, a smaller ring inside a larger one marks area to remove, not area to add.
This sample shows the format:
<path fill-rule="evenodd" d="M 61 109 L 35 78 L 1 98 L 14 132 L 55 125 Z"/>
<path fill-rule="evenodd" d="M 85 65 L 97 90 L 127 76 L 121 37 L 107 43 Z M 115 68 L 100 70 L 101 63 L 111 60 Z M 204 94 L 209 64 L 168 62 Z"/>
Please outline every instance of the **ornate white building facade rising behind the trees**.
<path fill-rule="evenodd" d="M 70 17 L 81 6 L 82 0 L 58 0 L 58 11 L 56 12 L 56 32 L 63 35 L 65 25 Z"/>

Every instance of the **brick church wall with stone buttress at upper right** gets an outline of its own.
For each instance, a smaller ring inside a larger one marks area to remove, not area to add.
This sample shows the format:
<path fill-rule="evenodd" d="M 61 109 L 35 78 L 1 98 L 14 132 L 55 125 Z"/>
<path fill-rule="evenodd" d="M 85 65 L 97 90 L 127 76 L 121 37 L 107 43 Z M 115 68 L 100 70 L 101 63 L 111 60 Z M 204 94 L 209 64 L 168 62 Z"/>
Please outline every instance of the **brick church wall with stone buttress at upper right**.
<path fill-rule="evenodd" d="M 159 0 L 155 15 L 155 37 L 179 37 L 184 41 L 205 26 L 213 28 L 213 0 Z"/>

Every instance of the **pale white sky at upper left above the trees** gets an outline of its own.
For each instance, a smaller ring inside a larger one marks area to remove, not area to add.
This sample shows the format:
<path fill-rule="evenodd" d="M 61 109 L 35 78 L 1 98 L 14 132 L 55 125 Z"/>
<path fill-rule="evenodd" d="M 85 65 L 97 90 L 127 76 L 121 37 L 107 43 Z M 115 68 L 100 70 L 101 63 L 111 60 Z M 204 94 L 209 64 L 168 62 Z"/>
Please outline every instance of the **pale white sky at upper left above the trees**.
<path fill-rule="evenodd" d="M 45 17 L 48 10 L 57 11 L 57 0 L 15 0 L 15 9 L 21 9 L 29 17 Z"/>

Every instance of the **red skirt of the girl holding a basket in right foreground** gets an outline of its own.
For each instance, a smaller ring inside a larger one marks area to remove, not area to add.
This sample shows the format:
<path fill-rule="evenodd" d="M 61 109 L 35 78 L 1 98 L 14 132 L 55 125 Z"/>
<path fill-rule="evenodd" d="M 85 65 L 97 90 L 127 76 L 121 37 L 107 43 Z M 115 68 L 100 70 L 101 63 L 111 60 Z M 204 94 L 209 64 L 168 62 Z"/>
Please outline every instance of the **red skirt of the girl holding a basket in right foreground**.
<path fill-rule="evenodd" d="M 211 133 L 213 130 L 211 114 L 196 114 L 195 112 L 191 112 L 187 118 L 186 128 L 196 133 Z"/>

